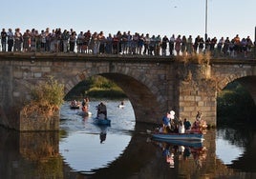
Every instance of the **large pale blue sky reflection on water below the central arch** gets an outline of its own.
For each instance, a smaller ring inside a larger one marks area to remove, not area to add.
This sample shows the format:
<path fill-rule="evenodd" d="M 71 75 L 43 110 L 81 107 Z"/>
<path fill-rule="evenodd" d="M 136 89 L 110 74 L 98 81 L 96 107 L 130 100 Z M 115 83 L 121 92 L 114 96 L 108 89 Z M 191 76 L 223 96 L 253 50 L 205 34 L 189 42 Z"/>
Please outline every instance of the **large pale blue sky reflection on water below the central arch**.
<path fill-rule="evenodd" d="M 109 139 L 101 143 L 100 133 L 70 133 L 59 144 L 64 162 L 75 171 L 94 173 L 93 170 L 106 168 L 117 159 L 131 140 L 131 136 L 108 134 Z"/>

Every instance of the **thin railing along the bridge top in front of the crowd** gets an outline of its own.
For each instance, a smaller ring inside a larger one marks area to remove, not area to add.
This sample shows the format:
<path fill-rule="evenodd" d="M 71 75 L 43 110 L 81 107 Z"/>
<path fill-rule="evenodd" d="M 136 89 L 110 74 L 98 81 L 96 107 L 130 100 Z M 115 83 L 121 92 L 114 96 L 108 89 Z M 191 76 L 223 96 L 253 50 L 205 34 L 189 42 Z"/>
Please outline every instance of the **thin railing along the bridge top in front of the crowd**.
<path fill-rule="evenodd" d="M 106 48 L 106 47 L 105 47 Z M 118 49 L 118 47 L 117 47 Z M 63 52 L 63 51 L 47 51 L 47 50 L 26 50 L 24 51 L 23 49 L 21 50 L 12 50 L 12 51 L 1 51 L 1 54 L 29 54 L 29 53 L 40 53 L 41 55 L 50 55 L 50 54 L 88 54 L 88 55 L 104 55 L 104 56 L 113 56 L 113 55 L 118 55 L 120 56 L 136 56 L 137 58 L 141 57 L 141 58 L 147 58 L 147 57 L 153 57 L 153 56 L 158 56 L 158 57 L 176 57 L 176 56 L 189 56 L 189 55 L 194 55 L 194 54 L 200 54 L 200 53 L 205 53 L 205 52 L 209 52 L 209 54 L 211 55 L 212 58 L 218 59 L 218 58 L 230 58 L 230 59 L 256 59 L 256 46 L 251 47 L 250 50 L 219 50 L 218 48 L 215 48 L 214 50 L 197 50 L 197 51 L 181 51 L 180 54 L 177 54 L 176 50 L 173 50 L 172 52 L 170 52 L 170 50 L 167 48 L 166 52 L 163 52 L 163 50 L 160 48 L 159 50 L 152 50 L 147 51 L 145 50 L 144 47 L 142 47 L 141 49 L 135 49 L 134 52 L 130 51 L 130 50 L 122 50 L 122 48 L 120 48 L 119 51 L 116 50 L 111 50 L 111 51 L 107 51 L 107 50 L 103 50 L 103 52 L 99 52 L 99 51 L 94 51 L 91 50 L 89 47 L 87 47 L 84 51 L 80 51 L 77 52 L 77 50 L 75 51 L 70 51 L 67 50 L 67 52 Z"/>

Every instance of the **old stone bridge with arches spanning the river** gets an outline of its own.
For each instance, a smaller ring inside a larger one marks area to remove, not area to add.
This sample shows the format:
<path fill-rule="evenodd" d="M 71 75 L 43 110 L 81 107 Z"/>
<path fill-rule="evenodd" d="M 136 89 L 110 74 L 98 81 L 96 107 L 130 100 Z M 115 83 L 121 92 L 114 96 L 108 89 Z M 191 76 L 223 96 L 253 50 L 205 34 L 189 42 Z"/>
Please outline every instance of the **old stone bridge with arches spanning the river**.
<path fill-rule="evenodd" d="M 201 110 L 203 119 L 216 126 L 218 91 L 234 80 L 248 89 L 256 103 L 256 60 L 199 63 L 160 56 L 1 53 L 0 125 L 17 130 L 58 129 L 56 118 L 44 121 L 48 124 L 39 128 L 39 122 L 31 126 L 31 121 L 22 119 L 20 109 L 30 100 L 31 89 L 53 76 L 64 84 L 67 94 L 94 75 L 106 77 L 123 89 L 139 122 L 160 123 L 161 116 L 171 109 L 182 119 L 194 120 Z"/>

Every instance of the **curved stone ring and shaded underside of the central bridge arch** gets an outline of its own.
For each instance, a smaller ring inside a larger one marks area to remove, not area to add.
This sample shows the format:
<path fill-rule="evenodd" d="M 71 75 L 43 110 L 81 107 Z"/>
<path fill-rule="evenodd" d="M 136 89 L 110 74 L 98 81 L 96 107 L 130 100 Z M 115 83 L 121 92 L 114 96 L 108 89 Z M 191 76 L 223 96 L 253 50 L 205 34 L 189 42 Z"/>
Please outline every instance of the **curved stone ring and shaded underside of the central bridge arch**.
<path fill-rule="evenodd" d="M 139 121 L 156 123 L 156 119 L 162 115 L 162 109 L 165 108 L 166 99 L 163 97 L 165 95 L 161 94 L 162 90 L 157 88 L 154 81 L 146 78 L 142 72 L 140 74 L 138 71 L 122 67 L 118 67 L 117 71 L 109 72 L 100 68 L 84 70 L 65 83 L 65 93 L 67 94 L 75 85 L 88 77 L 101 75 L 123 89 L 131 101 Z"/>

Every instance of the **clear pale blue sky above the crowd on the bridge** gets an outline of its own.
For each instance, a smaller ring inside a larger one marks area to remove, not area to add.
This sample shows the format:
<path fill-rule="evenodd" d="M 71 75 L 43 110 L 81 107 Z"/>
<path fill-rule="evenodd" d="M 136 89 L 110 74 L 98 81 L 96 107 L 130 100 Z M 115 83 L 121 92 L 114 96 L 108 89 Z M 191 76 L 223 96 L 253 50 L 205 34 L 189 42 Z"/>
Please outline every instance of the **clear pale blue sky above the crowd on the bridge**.
<path fill-rule="evenodd" d="M 105 35 L 130 30 L 150 36 L 207 34 L 209 37 L 250 36 L 254 41 L 256 0 L 22 0 L 1 2 L 0 30 L 74 29 L 103 31 Z M 3 8 L 6 7 L 6 8 Z"/>

